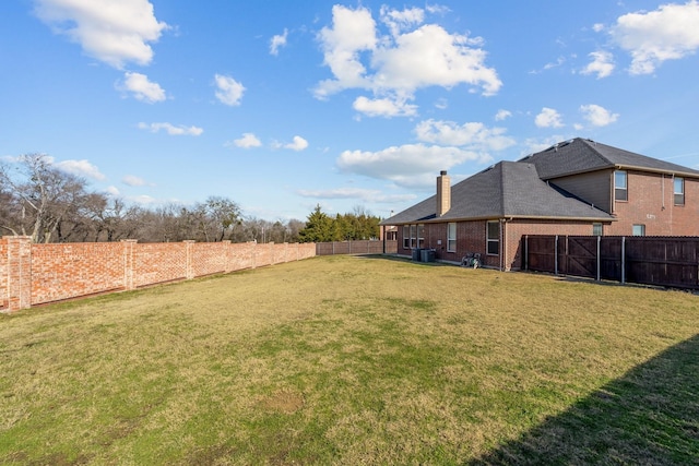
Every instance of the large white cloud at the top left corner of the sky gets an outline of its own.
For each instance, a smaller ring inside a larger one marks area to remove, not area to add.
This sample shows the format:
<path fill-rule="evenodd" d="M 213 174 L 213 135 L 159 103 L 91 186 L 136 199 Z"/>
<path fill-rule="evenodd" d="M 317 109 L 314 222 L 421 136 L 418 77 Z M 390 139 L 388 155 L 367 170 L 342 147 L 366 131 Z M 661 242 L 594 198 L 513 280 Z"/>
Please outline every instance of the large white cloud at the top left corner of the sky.
<path fill-rule="evenodd" d="M 147 0 L 35 0 L 36 15 L 84 52 L 114 68 L 149 64 L 168 25 L 158 22 Z"/>

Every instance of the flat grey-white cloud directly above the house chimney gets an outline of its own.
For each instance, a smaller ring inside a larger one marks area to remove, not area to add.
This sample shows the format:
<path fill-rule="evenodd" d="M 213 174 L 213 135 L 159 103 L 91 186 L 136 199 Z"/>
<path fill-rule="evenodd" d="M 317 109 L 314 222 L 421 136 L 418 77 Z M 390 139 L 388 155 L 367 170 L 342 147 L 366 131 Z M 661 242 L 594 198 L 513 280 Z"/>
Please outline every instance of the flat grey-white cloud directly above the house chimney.
<path fill-rule="evenodd" d="M 344 171 L 388 179 L 407 187 L 434 183 L 435 177 L 431 174 L 469 160 L 489 163 L 493 158 L 487 154 L 459 147 L 406 144 L 378 152 L 344 151 L 336 162 Z"/>

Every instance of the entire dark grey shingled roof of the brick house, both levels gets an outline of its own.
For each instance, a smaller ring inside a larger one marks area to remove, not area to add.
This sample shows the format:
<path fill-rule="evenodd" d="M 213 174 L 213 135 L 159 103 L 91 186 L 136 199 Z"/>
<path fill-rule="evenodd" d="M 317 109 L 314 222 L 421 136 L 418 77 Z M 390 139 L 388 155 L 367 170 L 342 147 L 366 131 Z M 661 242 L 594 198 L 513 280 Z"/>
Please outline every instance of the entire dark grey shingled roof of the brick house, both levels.
<path fill-rule="evenodd" d="M 484 218 L 558 218 L 608 222 L 603 212 L 555 186 L 555 179 L 603 169 L 639 169 L 699 177 L 699 170 L 577 138 L 519 162 L 500 162 L 451 187 L 451 208 L 439 222 Z M 381 222 L 437 220 L 433 195 Z"/>

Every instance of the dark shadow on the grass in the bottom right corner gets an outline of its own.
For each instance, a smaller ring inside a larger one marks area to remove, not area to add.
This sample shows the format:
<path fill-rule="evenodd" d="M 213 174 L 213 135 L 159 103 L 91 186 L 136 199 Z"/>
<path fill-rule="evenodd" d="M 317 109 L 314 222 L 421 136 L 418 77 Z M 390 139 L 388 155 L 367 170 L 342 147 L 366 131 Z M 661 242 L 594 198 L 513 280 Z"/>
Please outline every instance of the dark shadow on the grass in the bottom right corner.
<path fill-rule="evenodd" d="M 699 465 L 699 335 L 470 465 Z"/>

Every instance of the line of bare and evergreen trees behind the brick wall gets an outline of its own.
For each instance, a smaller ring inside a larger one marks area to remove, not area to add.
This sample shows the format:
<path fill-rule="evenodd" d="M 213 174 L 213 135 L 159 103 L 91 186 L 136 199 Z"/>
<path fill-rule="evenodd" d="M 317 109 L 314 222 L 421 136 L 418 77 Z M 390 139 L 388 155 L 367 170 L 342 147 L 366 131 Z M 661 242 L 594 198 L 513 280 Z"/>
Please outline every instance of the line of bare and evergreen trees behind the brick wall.
<path fill-rule="evenodd" d="M 378 237 L 379 222 L 360 207 L 331 218 L 320 206 L 308 222 L 269 222 L 244 215 L 236 202 L 221 196 L 209 196 L 194 205 L 170 203 L 146 208 L 91 191 L 83 178 L 58 169 L 43 154 L 20 156 L 15 164 L 0 163 L 0 236 L 28 236 L 33 242 L 369 239 Z M 325 223 L 332 226 L 327 228 Z"/>

